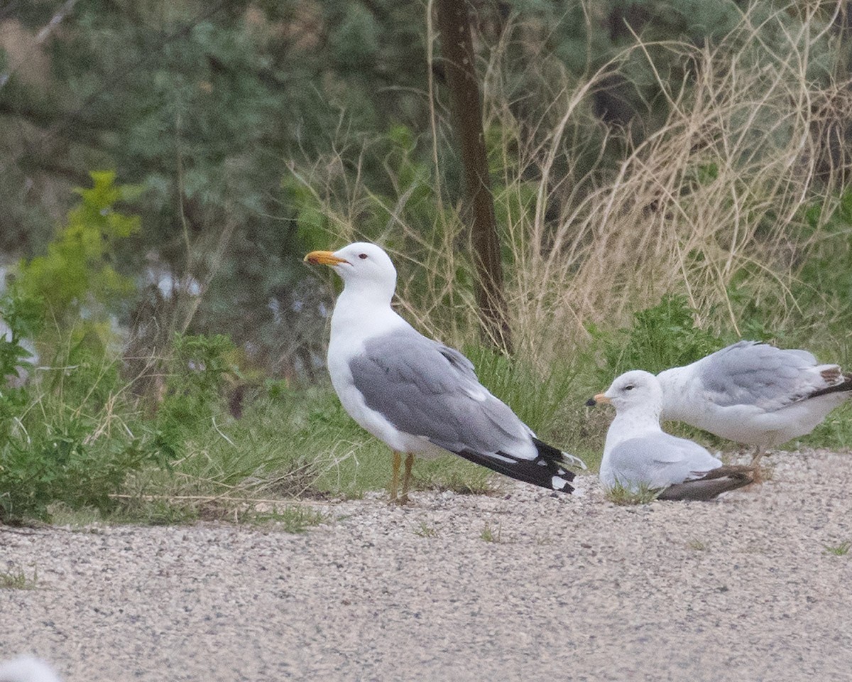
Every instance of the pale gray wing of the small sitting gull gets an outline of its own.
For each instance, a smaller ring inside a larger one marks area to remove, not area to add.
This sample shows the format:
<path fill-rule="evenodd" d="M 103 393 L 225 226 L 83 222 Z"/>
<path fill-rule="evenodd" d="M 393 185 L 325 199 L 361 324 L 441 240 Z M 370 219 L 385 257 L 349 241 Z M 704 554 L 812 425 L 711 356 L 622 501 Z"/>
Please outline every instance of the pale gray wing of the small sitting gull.
<path fill-rule="evenodd" d="M 613 476 L 622 486 L 666 488 L 703 476 L 722 465 L 698 443 L 667 433 L 630 438 L 609 455 Z"/>

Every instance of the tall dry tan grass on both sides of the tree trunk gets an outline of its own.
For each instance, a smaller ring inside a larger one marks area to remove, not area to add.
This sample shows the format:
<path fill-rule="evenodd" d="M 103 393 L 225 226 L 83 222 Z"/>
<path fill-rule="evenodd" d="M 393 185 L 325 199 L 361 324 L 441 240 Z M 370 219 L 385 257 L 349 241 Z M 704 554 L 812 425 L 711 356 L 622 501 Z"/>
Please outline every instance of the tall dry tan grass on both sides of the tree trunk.
<path fill-rule="evenodd" d="M 802 229 L 803 209 L 823 205 L 827 217 L 849 172 L 843 121 L 852 87 L 832 61 L 826 14 L 837 7 L 794 3 L 760 20 L 750 10 L 712 46 L 636 37 L 581 80 L 543 57 L 530 76 L 546 78 L 539 90 L 554 95 L 534 121 L 518 118 L 516 102 L 504 94 L 506 46 L 490 50 L 486 130 L 502 154 L 499 163 L 492 159 L 499 168 L 495 198 L 513 254 L 506 293 L 521 353 L 546 361 L 582 341 L 590 323 L 623 324 L 665 292 L 685 293 L 700 323 L 737 330 L 742 303 L 730 295 L 734 283 L 748 298 L 769 301 L 783 324 L 796 305 L 789 292 L 797 267 L 820 239 L 819 226 Z M 683 74 L 676 82 L 657 78 L 667 113 L 641 142 L 630 130 L 607 129 L 590 103 L 637 57 L 659 74 L 671 64 Z M 433 111 L 435 134 L 446 135 L 446 112 Z M 435 159 L 440 163 L 436 152 Z M 388 244 L 409 319 L 446 340 L 469 339 L 475 302 L 459 276 L 471 269 L 458 211 L 441 205 L 427 233 L 406 211 L 410 190 L 379 198 L 360 176 L 344 173 L 339 159 L 323 163 L 304 178 L 322 188 L 317 199 L 331 217 L 331 242 Z M 424 182 L 440 185 L 440 167 Z M 376 202 L 389 218 L 379 234 L 364 234 L 363 216 Z"/>

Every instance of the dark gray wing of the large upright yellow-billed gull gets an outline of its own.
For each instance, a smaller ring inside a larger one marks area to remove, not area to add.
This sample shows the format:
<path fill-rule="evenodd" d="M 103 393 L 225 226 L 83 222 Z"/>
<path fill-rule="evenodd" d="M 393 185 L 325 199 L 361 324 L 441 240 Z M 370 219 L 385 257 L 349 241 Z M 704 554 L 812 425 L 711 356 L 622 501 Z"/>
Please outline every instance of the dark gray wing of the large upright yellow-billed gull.
<path fill-rule="evenodd" d="M 400 431 L 455 453 L 518 456 L 521 448 L 535 457 L 532 431 L 479 383 L 458 350 L 403 328 L 368 340 L 349 368 L 367 406 Z"/>

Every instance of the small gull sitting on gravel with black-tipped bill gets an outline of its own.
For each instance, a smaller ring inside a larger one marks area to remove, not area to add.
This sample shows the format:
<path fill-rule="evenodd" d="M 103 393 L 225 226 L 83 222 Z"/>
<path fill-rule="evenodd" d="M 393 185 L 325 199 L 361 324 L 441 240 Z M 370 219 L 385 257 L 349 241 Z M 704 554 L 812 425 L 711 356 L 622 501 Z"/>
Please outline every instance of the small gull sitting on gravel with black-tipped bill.
<path fill-rule="evenodd" d="M 659 428 L 663 391 L 652 373 L 622 374 L 586 404 L 598 402 L 611 402 L 616 410 L 603 448 L 604 488 L 662 490 L 659 500 L 710 500 L 752 482 L 751 467 L 722 465 L 698 443 Z"/>

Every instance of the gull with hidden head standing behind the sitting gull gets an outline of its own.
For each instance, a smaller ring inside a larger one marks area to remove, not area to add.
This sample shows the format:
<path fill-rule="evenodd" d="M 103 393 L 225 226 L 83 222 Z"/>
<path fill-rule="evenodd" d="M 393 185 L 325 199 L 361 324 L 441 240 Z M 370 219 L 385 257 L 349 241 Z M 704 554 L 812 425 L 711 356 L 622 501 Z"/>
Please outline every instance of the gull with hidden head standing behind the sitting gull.
<path fill-rule="evenodd" d="M 837 365 L 820 365 L 807 350 L 756 341 L 667 369 L 658 379 L 662 419 L 753 446 L 752 465 L 768 448 L 813 431 L 852 393 L 852 376 Z"/>

